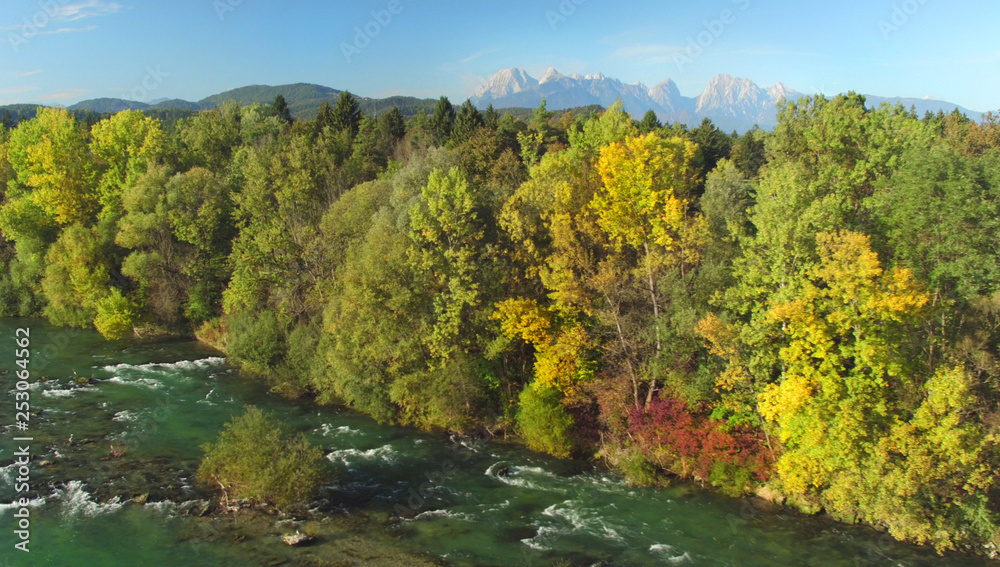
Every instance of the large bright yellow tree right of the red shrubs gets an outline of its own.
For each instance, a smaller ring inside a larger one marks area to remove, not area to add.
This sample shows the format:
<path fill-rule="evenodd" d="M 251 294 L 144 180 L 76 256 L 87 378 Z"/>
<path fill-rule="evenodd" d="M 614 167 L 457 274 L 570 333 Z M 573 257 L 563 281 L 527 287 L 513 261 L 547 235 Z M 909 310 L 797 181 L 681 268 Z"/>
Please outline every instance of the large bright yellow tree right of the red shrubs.
<path fill-rule="evenodd" d="M 909 270 L 885 272 L 869 238 L 817 235 L 820 263 L 798 297 L 773 305 L 788 344 L 784 372 L 758 397 L 785 451 L 776 469 L 791 492 L 855 478 L 912 391 L 908 335 L 928 295 Z"/>

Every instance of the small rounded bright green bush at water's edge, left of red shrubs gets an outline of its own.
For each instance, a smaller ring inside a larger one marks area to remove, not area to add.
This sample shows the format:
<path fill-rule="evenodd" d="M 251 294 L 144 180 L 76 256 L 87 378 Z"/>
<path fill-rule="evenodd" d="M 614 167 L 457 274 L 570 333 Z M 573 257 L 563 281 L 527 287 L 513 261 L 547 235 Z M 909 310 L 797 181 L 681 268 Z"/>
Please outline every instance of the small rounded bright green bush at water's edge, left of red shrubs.
<path fill-rule="evenodd" d="M 570 430 L 573 417 L 559 399 L 559 392 L 532 384 L 521 392 L 517 427 L 532 451 L 568 457 L 573 451 Z"/>

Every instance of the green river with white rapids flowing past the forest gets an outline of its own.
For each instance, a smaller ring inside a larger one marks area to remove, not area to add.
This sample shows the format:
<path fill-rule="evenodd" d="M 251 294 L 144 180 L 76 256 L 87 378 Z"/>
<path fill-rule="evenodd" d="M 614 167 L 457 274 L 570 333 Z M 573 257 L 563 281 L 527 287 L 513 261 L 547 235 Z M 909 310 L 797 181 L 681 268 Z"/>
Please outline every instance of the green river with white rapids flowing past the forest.
<path fill-rule="evenodd" d="M 31 333 L 27 431 L 12 425 L 18 327 Z M 0 377 L 3 567 L 996 565 L 687 484 L 630 487 L 592 463 L 514 443 L 285 400 L 193 341 L 106 342 L 90 331 L 3 320 L 0 353 L 8 371 Z M 323 447 L 335 480 L 309 522 L 199 515 L 208 498 L 192 486 L 200 447 L 247 405 Z M 30 553 L 14 549 L 18 436 L 34 439 Z M 317 534 L 317 543 L 282 544 L 280 535 L 295 529 Z"/>

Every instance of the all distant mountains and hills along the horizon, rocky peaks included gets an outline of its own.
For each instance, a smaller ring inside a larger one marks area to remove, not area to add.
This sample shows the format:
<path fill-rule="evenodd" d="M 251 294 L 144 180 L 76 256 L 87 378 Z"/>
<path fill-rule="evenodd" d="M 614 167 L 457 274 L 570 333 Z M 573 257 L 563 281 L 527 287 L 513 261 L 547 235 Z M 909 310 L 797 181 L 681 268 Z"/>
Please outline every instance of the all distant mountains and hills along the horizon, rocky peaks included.
<path fill-rule="evenodd" d="M 296 118 L 312 120 L 324 102 L 334 104 L 342 91 L 322 85 L 296 83 L 291 85 L 267 86 L 250 85 L 212 95 L 197 102 L 160 98 L 149 103 L 98 98 L 85 100 L 70 106 L 78 113 L 116 113 L 123 110 L 143 110 L 151 115 L 176 119 L 194 112 L 215 108 L 227 101 L 240 104 L 270 104 L 277 95 L 288 102 L 289 110 Z M 591 108 L 607 108 L 621 100 L 625 110 L 635 118 L 641 118 L 653 110 L 661 122 L 680 122 L 690 126 L 709 118 L 723 131 L 745 132 L 753 126 L 765 130 L 773 129 L 777 123 L 777 103 L 781 99 L 796 99 L 805 96 L 782 83 L 763 88 L 750 79 L 716 75 L 697 97 L 683 96 L 677 84 L 667 79 L 655 87 L 648 88 L 642 83 L 628 84 L 603 74 L 563 75 L 554 68 L 541 79 L 535 79 L 524 69 L 503 69 L 494 73 L 472 97 L 479 108 L 492 104 L 497 109 L 506 109 L 517 117 L 530 116 L 531 109 L 542 101 L 549 110 L 574 110 L 587 113 Z M 421 110 L 431 113 L 436 99 L 406 96 L 388 98 L 357 97 L 361 110 L 366 114 L 380 114 L 393 106 L 399 107 L 404 115 L 412 116 Z M 902 104 L 913 108 L 918 115 L 939 110 L 950 113 L 954 110 L 972 119 L 981 113 L 962 108 L 956 104 L 929 99 L 880 97 L 866 95 L 869 106 L 883 102 Z M 458 102 L 453 102 L 458 106 Z M 0 107 L 18 117 L 34 116 L 37 105 L 11 105 Z"/>

